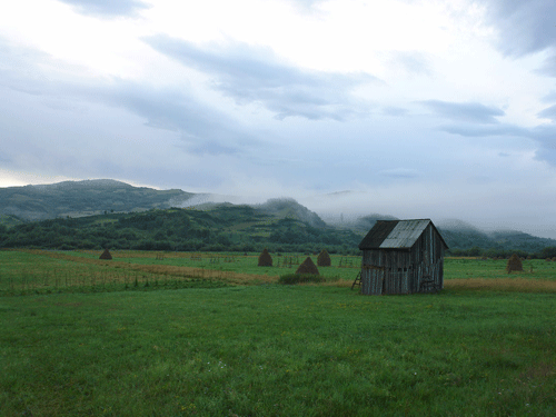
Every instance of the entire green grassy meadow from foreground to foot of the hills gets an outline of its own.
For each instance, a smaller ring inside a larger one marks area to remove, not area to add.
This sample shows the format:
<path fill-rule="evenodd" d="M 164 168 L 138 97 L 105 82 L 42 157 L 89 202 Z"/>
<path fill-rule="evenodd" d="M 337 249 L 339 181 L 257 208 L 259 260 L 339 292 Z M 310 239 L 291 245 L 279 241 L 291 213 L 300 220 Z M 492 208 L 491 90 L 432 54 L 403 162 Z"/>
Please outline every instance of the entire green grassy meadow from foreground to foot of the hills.
<path fill-rule="evenodd" d="M 0 415 L 556 414 L 556 262 L 368 297 L 358 257 L 280 286 L 306 256 L 99 255 L 0 251 Z"/>

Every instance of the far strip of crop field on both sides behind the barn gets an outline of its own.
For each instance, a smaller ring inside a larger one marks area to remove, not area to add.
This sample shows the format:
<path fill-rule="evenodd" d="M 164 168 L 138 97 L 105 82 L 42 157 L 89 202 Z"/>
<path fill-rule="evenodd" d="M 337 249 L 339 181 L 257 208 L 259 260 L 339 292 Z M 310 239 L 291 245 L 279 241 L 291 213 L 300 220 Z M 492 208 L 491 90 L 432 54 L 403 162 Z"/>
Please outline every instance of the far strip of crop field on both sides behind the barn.
<path fill-rule="evenodd" d="M 121 290 L 158 286 L 202 287 L 274 284 L 294 272 L 307 255 L 274 254 L 272 267 L 258 267 L 258 254 L 0 250 L 0 295 L 60 291 Z M 315 264 L 317 257 L 311 256 Z M 331 267 L 320 274 L 330 285 L 350 286 L 360 269 L 360 257 L 331 255 Z M 490 288 L 555 291 L 556 262 L 524 260 L 524 271 L 506 272 L 506 260 L 446 258 L 445 288 Z M 147 286 L 147 287 L 146 287 Z"/>

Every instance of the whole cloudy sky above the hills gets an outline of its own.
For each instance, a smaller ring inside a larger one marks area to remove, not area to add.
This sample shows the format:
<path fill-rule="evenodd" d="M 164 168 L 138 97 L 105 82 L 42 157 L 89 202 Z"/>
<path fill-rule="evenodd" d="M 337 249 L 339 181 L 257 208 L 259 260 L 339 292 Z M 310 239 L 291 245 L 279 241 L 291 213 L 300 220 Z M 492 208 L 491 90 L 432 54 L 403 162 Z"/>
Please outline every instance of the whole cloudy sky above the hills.
<path fill-rule="evenodd" d="M 556 238 L 554 0 L 0 6 L 0 187 L 112 178 Z"/>

